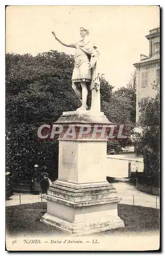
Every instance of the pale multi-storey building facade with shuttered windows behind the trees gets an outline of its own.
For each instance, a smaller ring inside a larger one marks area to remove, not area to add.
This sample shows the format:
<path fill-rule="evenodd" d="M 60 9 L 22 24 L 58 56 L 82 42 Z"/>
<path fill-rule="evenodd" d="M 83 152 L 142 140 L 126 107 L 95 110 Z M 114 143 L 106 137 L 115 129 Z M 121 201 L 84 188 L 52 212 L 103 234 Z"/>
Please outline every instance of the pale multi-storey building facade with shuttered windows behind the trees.
<path fill-rule="evenodd" d="M 160 28 L 149 31 L 146 35 L 149 40 L 149 56 L 141 54 L 139 62 L 134 63 L 136 68 L 136 122 L 141 115 L 139 102 L 146 104 L 154 98 L 157 92 L 152 84 L 160 84 Z"/>

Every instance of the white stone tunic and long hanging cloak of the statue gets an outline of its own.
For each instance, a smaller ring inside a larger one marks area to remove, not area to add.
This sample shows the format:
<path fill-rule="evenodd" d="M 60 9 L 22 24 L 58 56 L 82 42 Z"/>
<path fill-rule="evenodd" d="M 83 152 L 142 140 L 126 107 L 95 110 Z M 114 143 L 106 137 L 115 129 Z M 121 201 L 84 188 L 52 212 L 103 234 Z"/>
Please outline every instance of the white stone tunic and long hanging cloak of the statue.
<path fill-rule="evenodd" d="M 98 72 L 98 57 L 100 54 L 97 51 L 96 45 L 89 38 L 80 40 L 70 46 L 76 48 L 72 81 L 90 82 L 90 90 L 92 90 L 91 111 L 98 113 L 100 112 L 101 74 Z M 79 49 L 81 50 L 80 52 Z"/>

